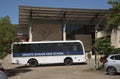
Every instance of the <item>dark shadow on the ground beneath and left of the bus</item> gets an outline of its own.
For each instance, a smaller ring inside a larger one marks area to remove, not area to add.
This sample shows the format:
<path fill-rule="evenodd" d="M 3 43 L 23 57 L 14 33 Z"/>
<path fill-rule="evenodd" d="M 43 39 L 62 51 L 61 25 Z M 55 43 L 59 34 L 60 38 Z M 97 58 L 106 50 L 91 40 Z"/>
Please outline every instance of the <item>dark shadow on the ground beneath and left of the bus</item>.
<path fill-rule="evenodd" d="M 73 65 L 86 65 L 86 63 L 76 63 L 76 64 L 72 64 L 72 65 L 42 64 L 42 65 L 38 65 L 37 67 L 57 67 L 57 66 L 73 66 Z M 13 77 L 13 76 L 19 75 L 20 73 L 30 72 L 30 71 L 32 71 L 32 68 L 35 68 L 35 67 L 18 66 L 18 67 L 13 68 L 13 69 L 6 69 L 6 72 L 7 72 L 8 77 Z"/>

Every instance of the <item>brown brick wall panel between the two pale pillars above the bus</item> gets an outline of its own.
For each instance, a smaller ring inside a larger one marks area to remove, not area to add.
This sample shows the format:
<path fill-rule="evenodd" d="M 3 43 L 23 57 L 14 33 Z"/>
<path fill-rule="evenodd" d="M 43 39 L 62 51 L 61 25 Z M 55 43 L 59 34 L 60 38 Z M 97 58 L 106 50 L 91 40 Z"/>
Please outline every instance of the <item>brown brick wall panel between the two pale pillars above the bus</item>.
<path fill-rule="evenodd" d="M 32 34 L 33 41 L 62 40 L 62 25 L 36 22 Z"/>

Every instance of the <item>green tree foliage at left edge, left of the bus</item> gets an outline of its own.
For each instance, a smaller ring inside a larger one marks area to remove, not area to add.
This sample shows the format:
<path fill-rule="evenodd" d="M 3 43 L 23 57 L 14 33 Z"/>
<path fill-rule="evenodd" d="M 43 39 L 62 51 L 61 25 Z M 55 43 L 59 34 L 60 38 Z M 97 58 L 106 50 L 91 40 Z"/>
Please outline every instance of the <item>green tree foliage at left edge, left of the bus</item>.
<path fill-rule="evenodd" d="M 7 16 L 0 18 L 0 58 L 10 53 L 11 43 L 17 40 L 15 29 L 16 26 L 10 24 L 10 19 Z"/>

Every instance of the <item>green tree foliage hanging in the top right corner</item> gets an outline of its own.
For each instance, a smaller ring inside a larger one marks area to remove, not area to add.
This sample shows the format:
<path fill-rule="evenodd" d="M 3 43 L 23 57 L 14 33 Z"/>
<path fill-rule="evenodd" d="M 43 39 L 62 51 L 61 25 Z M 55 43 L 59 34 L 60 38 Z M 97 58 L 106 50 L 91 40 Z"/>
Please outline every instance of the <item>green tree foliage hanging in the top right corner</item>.
<path fill-rule="evenodd" d="M 109 9 L 110 13 L 106 15 L 106 30 L 117 30 L 120 28 L 120 0 L 109 0 L 108 4 L 112 5 L 112 8 Z"/>

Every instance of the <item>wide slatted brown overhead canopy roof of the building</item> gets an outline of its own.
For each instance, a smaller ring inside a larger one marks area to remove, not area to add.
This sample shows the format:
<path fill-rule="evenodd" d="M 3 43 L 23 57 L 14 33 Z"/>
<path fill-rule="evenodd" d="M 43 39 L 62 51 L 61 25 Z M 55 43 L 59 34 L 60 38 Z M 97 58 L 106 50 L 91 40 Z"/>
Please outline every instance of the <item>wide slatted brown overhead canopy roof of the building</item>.
<path fill-rule="evenodd" d="M 98 23 L 108 10 L 103 9 L 74 9 L 19 6 L 19 25 L 29 26 L 31 20 L 55 20 L 68 23 Z"/>

